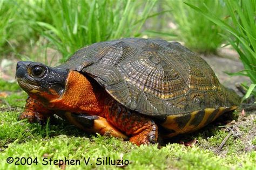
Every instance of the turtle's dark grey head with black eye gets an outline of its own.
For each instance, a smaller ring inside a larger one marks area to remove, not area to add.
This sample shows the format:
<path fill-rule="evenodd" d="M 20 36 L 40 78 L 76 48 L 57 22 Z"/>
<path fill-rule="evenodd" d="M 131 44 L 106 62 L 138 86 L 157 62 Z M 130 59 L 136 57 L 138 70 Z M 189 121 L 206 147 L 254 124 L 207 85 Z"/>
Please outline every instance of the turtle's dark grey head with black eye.
<path fill-rule="evenodd" d="M 69 71 L 52 68 L 39 62 L 19 61 L 16 79 L 19 86 L 30 96 L 52 100 L 64 93 Z"/>

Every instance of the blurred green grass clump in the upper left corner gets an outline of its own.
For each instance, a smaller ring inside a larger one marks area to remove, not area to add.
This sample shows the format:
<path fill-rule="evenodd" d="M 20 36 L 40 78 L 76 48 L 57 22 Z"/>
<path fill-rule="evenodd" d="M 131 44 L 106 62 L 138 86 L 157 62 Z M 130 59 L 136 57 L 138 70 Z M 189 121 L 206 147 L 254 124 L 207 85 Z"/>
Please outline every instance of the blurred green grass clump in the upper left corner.
<path fill-rule="evenodd" d="M 32 27 L 33 21 L 50 22 L 47 17 L 45 18 L 47 11 L 42 8 L 43 2 L 0 1 L 0 58 L 5 55 L 24 58 L 22 54 L 24 50 L 31 44 L 36 44 L 39 33 Z"/>

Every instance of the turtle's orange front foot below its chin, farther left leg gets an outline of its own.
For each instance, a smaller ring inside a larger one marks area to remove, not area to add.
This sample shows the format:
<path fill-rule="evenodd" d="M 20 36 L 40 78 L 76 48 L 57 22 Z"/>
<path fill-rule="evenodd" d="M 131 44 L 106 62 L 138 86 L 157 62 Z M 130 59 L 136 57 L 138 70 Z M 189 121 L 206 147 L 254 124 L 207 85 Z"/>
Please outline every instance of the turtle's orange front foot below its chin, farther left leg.
<path fill-rule="evenodd" d="M 30 123 L 39 122 L 43 124 L 48 117 L 50 117 L 50 110 L 46 109 L 37 100 L 29 97 L 26 100 L 25 110 L 19 115 L 18 120 L 27 118 Z"/>

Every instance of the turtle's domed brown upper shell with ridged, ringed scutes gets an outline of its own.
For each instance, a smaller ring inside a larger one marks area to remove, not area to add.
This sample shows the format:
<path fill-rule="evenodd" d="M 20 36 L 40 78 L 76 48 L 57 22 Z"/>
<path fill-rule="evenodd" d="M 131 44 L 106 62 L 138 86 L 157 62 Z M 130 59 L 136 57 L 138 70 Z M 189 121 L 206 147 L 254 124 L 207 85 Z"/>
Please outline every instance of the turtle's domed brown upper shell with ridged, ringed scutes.
<path fill-rule="evenodd" d="M 58 68 L 90 75 L 116 101 L 150 116 L 239 104 L 237 94 L 219 83 L 211 67 L 178 42 L 139 38 L 98 42 L 79 49 Z"/>

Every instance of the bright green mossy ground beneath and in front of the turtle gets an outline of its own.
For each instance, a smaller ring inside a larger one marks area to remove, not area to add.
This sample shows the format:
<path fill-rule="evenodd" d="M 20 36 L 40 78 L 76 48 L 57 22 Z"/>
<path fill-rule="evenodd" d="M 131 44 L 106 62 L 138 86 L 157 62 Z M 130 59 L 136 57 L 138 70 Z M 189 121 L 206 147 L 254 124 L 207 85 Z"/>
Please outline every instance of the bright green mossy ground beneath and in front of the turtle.
<path fill-rule="evenodd" d="M 5 86 L 14 86 L 13 83 L 5 83 Z M 214 124 L 199 132 L 173 139 L 173 141 L 189 141 L 196 138 L 198 143 L 194 147 L 172 143 L 172 140 L 171 143 L 160 148 L 157 145 L 138 147 L 122 139 L 86 134 L 60 120 L 57 120 L 57 124 L 47 123 L 44 126 L 37 123 L 30 124 L 26 120 L 18 122 L 17 117 L 24 109 L 26 94 L 15 88 L 6 93 L 9 94 L 8 97 L 0 98 L 0 169 L 59 169 L 60 165 L 49 165 L 49 159 L 65 158 L 80 161 L 80 165 L 66 165 L 66 169 L 120 169 L 114 165 L 97 165 L 99 164 L 97 158 L 105 157 L 129 160 L 129 165 L 125 166 L 125 169 L 253 169 L 255 167 L 256 151 L 245 152 L 246 146 L 242 137 L 231 136 L 222 148 L 221 154 L 214 153 L 228 134 Z M 250 123 L 240 129 L 242 136 L 252 133 L 250 132 L 252 127 L 249 125 Z M 255 137 L 250 142 L 256 145 Z M 37 158 L 37 163 L 35 161 L 32 165 L 7 164 L 6 159 L 9 157 L 30 157 L 32 160 Z M 85 165 L 84 158 L 90 158 L 89 165 Z M 47 160 L 48 165 L 43 165 L 46 164 L 43 159 Z"/>

